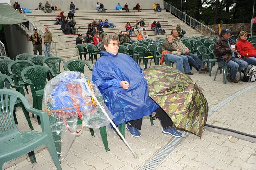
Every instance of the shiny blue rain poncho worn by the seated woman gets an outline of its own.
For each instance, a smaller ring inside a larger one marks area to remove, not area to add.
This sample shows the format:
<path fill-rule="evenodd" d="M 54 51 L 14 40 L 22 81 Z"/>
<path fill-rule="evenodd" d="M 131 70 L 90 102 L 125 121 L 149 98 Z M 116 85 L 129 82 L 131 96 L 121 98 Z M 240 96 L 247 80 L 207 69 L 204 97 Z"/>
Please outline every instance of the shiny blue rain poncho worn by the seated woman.
<path fill-rule="evenodd" d="M 142 69 L 122 53 L 101 51 L 92 69 L 92 81 L 99 88 L 116 125 L 152 114 L 159 106 L 149 97 L 148 85 Z M 129 82 L 123 89 L 121 81 Z"/>

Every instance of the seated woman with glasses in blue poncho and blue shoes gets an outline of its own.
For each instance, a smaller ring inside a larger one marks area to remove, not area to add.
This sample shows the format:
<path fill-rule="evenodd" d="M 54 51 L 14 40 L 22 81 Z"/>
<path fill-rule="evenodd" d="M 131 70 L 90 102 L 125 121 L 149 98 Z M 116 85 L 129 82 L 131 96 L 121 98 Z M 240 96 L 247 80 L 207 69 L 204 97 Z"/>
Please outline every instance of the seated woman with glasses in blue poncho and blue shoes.
<path fill-rule="evenodd" d="M 101 42 L 101 57 L 92 69 L 92 80 L 98 86 L 116 125 L 127 122 L 126 129 L 140 137 L 142 118 L 156 112 L 163 126 L 162 132 L 175 137 L 182 134 L 172 126 L 172 120 L 149 97 L 145 74 L 134 60 L 118 53 L 116 35 L 107 35 Z M 139 130 L 138 130 L 139 129 Z"/>

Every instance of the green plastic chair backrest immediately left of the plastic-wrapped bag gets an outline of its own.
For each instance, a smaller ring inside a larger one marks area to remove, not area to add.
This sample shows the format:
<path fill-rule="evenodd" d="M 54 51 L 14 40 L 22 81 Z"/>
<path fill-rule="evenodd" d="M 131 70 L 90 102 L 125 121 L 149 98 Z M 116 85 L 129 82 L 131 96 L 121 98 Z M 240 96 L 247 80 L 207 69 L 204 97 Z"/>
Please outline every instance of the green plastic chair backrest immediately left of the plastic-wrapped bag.
<path fill-rule="evenodd" d="M 30 84 L 31 92 L 35 94 L 37 90 L 43 90 L 46 85 L 47 73 L 52 74 L 52 77 L 55 76 L 52 69 L 45 66 L 29 66 L 22 70 L 21 77 L 22 80 Z M 28 82 L 26 76 L 31 81 Z"/>

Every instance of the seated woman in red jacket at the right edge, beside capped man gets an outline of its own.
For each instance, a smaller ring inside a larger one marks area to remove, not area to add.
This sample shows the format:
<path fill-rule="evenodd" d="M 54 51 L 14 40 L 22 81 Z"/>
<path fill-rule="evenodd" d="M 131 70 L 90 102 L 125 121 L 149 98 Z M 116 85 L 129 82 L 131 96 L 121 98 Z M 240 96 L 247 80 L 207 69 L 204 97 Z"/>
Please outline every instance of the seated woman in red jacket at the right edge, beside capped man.
<path fill-rule="evenodd" d="M 247 35 L 248 33 L 246 31 L 239 33 L 236 47 L 240 54 L 245 56 L 245 61 L 248 64 L 254 64 L 256 66 L 256 50 L 252 43 L 246 41 Z"/>

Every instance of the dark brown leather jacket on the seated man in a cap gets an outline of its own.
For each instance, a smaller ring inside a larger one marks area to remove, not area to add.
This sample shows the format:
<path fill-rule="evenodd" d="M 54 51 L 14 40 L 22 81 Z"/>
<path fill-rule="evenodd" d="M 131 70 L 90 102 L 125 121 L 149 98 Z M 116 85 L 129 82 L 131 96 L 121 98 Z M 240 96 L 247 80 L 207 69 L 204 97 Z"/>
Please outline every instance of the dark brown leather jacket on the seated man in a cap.
<path fill-rule="evenodd" d="M 229 38 L 229 42 L 230 42 L 230 45 L 236 44 L 234 40 L 232 40 L 231 38 Z M 228 41 L 222 36 L 215 41 L 213 48 L 217 57 L 224 58 L 223 56 L 225 56 L 226 54 L 229 54 L 232 56 L 231 49 L 228 45 Z M 240 54 L 238 51 L 235 52 L 236 57 L 238 54 Z M 225 61 L 228 62 L 230 59 L 231 58 L 225 59 Z M 221 60 L 217 59 L 217 61 L 219 62 Z"/>

